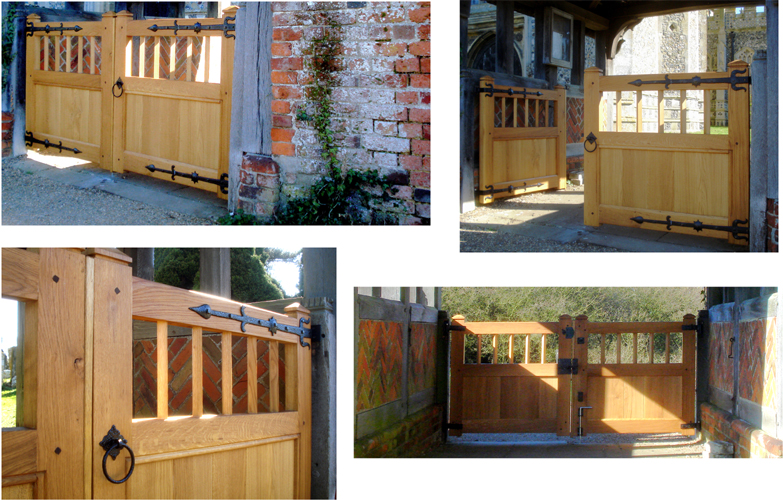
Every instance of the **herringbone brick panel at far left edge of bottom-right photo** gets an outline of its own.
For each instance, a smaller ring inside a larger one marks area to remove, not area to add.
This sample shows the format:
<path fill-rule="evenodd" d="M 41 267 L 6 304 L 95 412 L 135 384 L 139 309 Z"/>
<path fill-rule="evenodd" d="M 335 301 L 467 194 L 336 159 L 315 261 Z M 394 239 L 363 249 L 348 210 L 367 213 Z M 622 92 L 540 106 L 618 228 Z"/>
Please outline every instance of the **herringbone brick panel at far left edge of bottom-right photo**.
<path fill-rule="evenodd" d="M 399 399 L 402 389 L 402 325 L 363 320 L 359 323 L 356 411 Z"/>

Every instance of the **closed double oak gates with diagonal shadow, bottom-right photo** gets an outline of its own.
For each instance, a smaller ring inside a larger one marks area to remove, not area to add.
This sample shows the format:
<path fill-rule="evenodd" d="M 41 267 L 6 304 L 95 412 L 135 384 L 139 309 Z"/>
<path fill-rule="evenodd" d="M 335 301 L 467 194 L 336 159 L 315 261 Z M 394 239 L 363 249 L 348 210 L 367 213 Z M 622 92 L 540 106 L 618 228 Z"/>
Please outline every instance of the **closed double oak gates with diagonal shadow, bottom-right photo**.
<path fill-rule="evenodd" d="M 452 329 L 451 435 L 694 433 L 693 315 L 647 323 L 591 323 L 586 316 L 474 323 L 455 316 Z M 474 345 L 483 346 L 482 355 Z"/>

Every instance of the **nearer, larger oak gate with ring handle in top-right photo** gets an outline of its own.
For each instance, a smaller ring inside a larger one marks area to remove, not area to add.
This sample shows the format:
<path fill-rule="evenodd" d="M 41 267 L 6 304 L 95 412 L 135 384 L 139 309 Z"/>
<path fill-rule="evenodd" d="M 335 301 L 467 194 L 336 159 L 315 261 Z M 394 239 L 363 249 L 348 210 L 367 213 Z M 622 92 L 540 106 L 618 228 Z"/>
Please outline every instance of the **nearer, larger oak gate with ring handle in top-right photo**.
<path fill-rule="evenodd" d="M 595 139 L 585 142 L 585 224 L 686 234 L 695 225 L 695 234 L 728 234 L 730 243 L 747 244 L 750 85 L 749 79 L 736 81 L 748 72 L 744 61 L 729 63 L 723 73 L 601 76 L 598 68 L 586 70 L 585 132 Z M 728 135 L 710 127 L 712 91 L 728 93 Z M 623 113 L 623 94 L 633 96 L 634 113 Z M 666 110 L 672 105 L 678 109 Z M 699 114 L 705 117 L 703 132 L 689 131 L 689 116 Z M 624 119 L 635 125 L 624 127 Z M 679 134 L 664 133 L 676 127 Z M 742 227 L 745 233 L 703 225 Z"/>

